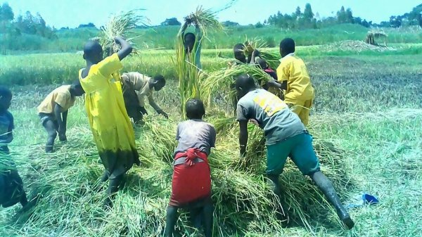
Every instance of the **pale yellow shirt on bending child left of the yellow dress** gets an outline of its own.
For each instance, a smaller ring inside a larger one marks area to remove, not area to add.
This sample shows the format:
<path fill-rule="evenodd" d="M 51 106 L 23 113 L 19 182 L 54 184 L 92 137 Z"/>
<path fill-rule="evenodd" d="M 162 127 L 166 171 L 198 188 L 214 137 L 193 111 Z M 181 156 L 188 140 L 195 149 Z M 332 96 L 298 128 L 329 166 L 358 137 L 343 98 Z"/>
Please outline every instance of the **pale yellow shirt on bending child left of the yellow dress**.
<path fill-rule="evenodd" d="M 51 91 L 37 107 L 38 113 L 53 114 L 56 103 L 61 106 L 61 112 L 65 112 L 75 105 L 75 97 L 70 94 L 70 85 L 61 86 Z"/>

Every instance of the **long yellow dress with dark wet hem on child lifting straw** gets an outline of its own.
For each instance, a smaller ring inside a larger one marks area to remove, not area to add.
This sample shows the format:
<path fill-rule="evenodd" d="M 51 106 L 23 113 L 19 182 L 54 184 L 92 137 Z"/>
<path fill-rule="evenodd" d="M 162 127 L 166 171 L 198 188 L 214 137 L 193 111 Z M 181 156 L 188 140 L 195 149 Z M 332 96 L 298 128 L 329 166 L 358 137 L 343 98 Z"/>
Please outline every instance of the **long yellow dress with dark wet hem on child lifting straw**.
<path fill-rule="evenodd" d="M 82 78 L 82 70 L 79 71 L 91 131 L 110 179 L 124 174 L 134 163 L 140 165 L 134 129 L 124 107 L 118 77 L 121 68 L 115 53 L 92 65 L 87 77 Z"/>

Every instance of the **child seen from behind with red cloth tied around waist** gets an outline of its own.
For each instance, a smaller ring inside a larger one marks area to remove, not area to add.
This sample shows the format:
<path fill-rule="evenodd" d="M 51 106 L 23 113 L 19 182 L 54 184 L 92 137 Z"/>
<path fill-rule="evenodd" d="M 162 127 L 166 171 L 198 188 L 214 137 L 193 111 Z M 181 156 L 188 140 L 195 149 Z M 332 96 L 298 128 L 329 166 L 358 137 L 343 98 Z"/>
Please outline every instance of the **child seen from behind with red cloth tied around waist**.
<path fill-rule="evenodd" d="M 205 236 L 212 236 L 211 177 L 208 155 L 215 147 L 215 128 L 202 120 L 205 115 L 203 102 L 191 98 L 186 102 L 189 120 L 177 127 L 179 141 L 174 152 L 172 196 L 167 207 L 165 236 L 173 236 L 177 222 L 177 209 L 186 208 L 198 228 L 202 219 Z"/>

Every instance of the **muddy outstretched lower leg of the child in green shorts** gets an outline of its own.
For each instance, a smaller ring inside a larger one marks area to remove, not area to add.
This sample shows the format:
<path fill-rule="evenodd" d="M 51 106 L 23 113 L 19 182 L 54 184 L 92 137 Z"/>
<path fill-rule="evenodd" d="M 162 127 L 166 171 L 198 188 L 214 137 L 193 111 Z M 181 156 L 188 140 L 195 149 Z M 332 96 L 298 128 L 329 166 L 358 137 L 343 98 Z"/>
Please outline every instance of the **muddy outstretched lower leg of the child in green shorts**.
<path fill-rule="evenodd" d="M 335 192 L 335 188 L 331 181 L 324 175 L 322 172 L 315 172 L 314 174 L 310 175 L 311 179 L 315 182 L 316 186 L 324 193 L 328 202 L 334 206 L 335 210 L 337 211 L 338 218 L 345 224 L 347 229 L 352 229 L 354 226 L 354 222 L 352 218 L 350 218 L 349 213 L 341 204 L 340 198 L 338 198 L 337 193 Z"/>

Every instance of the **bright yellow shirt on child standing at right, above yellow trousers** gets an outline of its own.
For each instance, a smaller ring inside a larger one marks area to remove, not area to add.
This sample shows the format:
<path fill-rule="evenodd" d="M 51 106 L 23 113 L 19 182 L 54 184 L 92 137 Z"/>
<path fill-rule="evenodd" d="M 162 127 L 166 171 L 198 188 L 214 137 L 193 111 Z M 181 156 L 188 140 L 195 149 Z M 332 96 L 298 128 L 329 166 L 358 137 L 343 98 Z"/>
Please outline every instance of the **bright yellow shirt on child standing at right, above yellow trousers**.
<path fill-rule="evenodd" d="M 277 68 L 279 82 L 287 81 L 286 103 L 294 101 L 308 101 L 314 98 L 314 87 L 302 59 L 293 53 L 281 58 Z"/>

